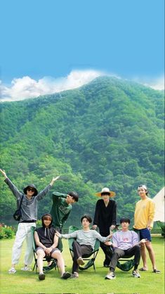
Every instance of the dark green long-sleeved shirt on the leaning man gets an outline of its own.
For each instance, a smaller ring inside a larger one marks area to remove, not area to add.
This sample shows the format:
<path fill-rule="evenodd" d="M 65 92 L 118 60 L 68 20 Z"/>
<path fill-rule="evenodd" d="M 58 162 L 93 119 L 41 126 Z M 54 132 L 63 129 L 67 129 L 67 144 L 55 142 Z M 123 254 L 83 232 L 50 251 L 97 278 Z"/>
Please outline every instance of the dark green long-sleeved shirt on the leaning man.
<path fill-rule="evenodd" d="M 67 217 L 72 210 L 72 205 L 66 202 L 67 194 L 53 192 L 53 205 L 51 207 L 51 215 L 53 217 L 53 226 L 62 229 Z"/>

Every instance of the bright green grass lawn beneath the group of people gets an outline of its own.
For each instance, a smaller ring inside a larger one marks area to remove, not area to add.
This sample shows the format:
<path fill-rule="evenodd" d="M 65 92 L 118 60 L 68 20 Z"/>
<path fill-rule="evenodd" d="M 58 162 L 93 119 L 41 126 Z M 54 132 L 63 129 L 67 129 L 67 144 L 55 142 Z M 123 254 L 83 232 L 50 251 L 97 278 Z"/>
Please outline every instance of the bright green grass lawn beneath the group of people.
<path fill-rule="evenodd" d="M 96 272 L 93 268 L 80 271 L 79 279 L 61 280 L 58 270 L 51 270 L 46 274 L 45 281 L 39 281 L 35 272 L 21 271 L 25 247 L 22 250 L 20 263 L 17 265 L 16 274 L 8 274 L 11 267 L 12 240 L 2 240 L 1 245 L 1 294 L 14 293 L 140 293 L 140 294 L 163 294 L 164 293 L 164 238 L 154 236 L 152 245 L 157 260 L 157 268 L 161 274 L 152 273 L 152 265 L 148 258 L 149 270 L 141 273 L 141 279 L 134 279 L 131 271 L 116 270 L 117 279 L 105 280 L 107 269 L 103 267 L 103 252 L 100 249 L 95 262 Z M 72 260 L 68 249 L 67 241 L 64 245 L 63 257 L 67 264 L 67 271 L 72 269 Z M 140 262 L 142 266 L 142 262 Z"/>

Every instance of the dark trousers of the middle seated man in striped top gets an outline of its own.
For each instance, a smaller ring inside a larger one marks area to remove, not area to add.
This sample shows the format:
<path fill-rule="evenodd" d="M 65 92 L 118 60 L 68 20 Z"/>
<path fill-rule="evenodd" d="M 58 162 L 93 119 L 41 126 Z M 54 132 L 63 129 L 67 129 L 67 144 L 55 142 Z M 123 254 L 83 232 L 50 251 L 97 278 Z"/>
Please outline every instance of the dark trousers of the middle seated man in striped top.
<path fill-rule="evenodd" d="M 90 256 L 93 252 L 93 248 L 91 245 L 80 245 L 77 241 L 72 243 L 74 257 L 73 257 L 73 266 L 72 266 L 72 274 L 74 271 L 79 271 L 79 265 L 77 264 L 78 257 L 86 257 L 86 255 Z"/>

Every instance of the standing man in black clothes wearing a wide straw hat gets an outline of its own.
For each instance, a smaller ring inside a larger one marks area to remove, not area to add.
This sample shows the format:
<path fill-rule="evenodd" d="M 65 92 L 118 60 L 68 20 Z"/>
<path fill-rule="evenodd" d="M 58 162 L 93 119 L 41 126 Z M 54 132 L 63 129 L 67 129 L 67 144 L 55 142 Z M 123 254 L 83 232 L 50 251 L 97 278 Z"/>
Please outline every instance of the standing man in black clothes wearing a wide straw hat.
<path fill-rule="evenodd" d="M 93 229 L 99 228 L 101 236 L 110 234 L 117 222 L 117 203 L 110 199 L 116 194 L 110 191 L 109 188 L 103 188 L 102 191 L 96 193 L 102 199 L 98 200 L 95 206 L 95 216 L 93 220 Z M 104 243 L 100 244 L 103 252 L 105 253 L 104 267 L 110 267 L 111 254 L 109 247 Z"/>

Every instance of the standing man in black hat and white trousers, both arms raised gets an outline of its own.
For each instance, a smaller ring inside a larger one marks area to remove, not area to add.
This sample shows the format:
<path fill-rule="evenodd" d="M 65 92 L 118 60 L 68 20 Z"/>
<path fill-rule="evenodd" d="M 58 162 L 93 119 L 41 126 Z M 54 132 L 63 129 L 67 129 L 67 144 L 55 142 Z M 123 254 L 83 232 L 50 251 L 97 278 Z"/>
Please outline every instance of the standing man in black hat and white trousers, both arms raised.
<path fill-rule="evenodd" d="M 46 196 L 46 193 L 51 189 L 54 182 L 59 177 L 53 177 L 52 181 L 43 191 L 37 191 L 36 186 L 34 184 L 29 184 L 23 189 L 23 193 L 18 191 L 18 188 L 12 183 L 10 179 L 6 176 L 6 172 L 0 169 L 1 174 L 5 177 L 5 182 L 8 187 L 11 189 L 13 195 L 17 199 L 17 205 L 20 205 L 20 200 L 22 198 L 21 204 L 21 213 L 22 216 L 18 223 L 18 230 L 15 236 L 15 242 L 13 245 L 12 252 L 12 264 L 11 269 L 8 270 L 8 274 L 15 274 L 15 264 L 18 264 L 20 259 L 20 254 L 22 250 L 23 242 L 27 241 L 27 248 L 25 253 L 25 266 L 22 267 L 22 271 L 30 271 L 29 265 L 33 260 L 33 245 L 32 245 L 32 233 L 31 227 L 36 226 L 37 222 L 37 211 L 38 211 L 38 201 Z"/>

